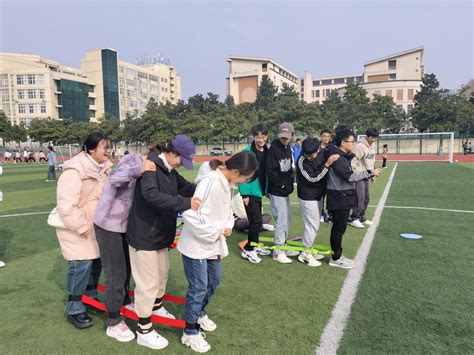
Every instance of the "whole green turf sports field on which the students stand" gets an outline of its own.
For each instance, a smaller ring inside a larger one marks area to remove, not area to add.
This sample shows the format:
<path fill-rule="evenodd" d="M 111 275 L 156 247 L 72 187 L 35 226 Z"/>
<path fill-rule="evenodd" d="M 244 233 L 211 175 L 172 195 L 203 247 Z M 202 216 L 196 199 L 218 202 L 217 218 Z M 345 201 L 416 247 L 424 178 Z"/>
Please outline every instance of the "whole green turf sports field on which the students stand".
<path fill-rule="evenodd" d="M 108 338 L 104 314 L 92 314 L 96 324 L 84 330 L 66 322 L 67 262 L 55 231 L 46 224 L 56 185 L 44 181 L 45 166 L 3 166 L 0 260 L 7 266 L 0 269 L 0 354 L 153 353 L 135 341 L 123 344 Z M 369 217 L 393 168 L 389 165 L 371 185 Z M 183 171 L 189 179 L 194 174 Z M 474 353 L 474 164 L 398 163 L 386 193 L 338 352 Z M 301 235 L 296 204 L 293 217 L 292 235 Z M 329 230 L 330 224 L 322 224 L 318 244 L 328 244 Z M 346 256 L 356 255 L 366 232 L 348 227 Z M 423 239 L 402 239 L 403 232 Z M 317 268 L 296 259 L 282 265 L 268 257 L 251 264 L 238 250 L 245 237 L 234 232 L 228 239 L 223 281 L 208 309 L 218 325 L 207 334 L 211 352 L 314 353 L 326 324 L 334 320 L 333 308 L 351 273 L 329 267 L 327 259 Z M 168 293 L 184 296 L 186 286 L 179 254 L 173 250 Z M 167 308 L 182 319 L 182 305 L 169 303 Z M 135 328 L 134 322 L 129 324 Z M 181 345 L 180 329 L 157 325 L 157 330 L 170 341 L 163 353 L 193 353 Z"/>

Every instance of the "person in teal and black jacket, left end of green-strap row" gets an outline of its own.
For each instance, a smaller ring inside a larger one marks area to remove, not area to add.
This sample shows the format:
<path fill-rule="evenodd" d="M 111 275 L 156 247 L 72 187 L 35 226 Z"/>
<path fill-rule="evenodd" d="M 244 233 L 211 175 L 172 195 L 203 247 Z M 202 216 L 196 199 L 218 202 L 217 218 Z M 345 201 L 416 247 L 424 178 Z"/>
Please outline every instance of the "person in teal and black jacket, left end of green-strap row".
<path fill-rule="evenodd" d="M 245 206 L 245 212 L 249 221 L 248 241 L 241 253 L 242 258 L 251 263 L 258 264 L 262 261 L 259 255 L 270 255 L 269 250 L 255 248 L 252 242 L 258 243 L 258 237 L 262 230 L 262 197 L 265 194 L 267 184 L 266 161 L 268 155 L 267 139 L 268 128 L 265 125 L 258 124 L 251 130 L 252 144 L 244 151 L 252 152 L 258 161 L 258 179 L 250 183 L 239 185 L 239 193 Z"/>

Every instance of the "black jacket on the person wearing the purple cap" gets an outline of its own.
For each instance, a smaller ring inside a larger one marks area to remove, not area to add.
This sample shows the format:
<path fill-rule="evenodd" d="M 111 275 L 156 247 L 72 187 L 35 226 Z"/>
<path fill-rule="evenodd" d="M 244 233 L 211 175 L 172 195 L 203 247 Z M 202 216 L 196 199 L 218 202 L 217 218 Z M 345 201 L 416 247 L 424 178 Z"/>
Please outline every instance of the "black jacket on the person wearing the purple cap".
<path fill-rule="evenodd" d="M 160 250 L 173 243 L 178 212 L 191 208 L 196 186 L 175 169 L 168 170 L 160 156 L 150 154 L 148 159 L 156 164 L 156 172 L 137 179 L 126 240 L 137 250 Z"/>

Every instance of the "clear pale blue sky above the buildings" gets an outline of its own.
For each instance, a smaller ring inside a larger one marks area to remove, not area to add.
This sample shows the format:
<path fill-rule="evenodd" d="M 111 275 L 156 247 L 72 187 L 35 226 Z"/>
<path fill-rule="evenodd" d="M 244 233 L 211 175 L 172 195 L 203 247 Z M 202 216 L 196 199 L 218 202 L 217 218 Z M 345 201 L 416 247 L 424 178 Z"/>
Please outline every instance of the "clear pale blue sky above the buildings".
<path fill-rule="evenodd" d="M 425 73 L 456 90 L 474 78 L 473 12 L 473 1 L 0 0 L 0 51 L 76 68 L 96 48 L 132 63 L 160 53 L 181 75 L 183 99 L 224 100 L 229 55 L 322 77 L 424 46 Z"/>

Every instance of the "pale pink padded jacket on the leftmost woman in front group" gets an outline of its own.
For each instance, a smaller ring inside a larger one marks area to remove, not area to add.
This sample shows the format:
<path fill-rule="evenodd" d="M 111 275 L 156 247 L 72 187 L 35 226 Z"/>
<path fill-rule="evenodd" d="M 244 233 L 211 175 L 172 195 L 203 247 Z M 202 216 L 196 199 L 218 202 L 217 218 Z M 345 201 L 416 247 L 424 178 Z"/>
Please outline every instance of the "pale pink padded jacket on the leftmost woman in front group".
<path fill-rule="evenodd" d="M 58 213 L 68 229 L 56 229 L 61 252 L 66 260 L 99 257 L 92 219 L 97 201 L 112 163 L 97 164 L 81 152 L 63 164 L 58 181 Z"/>

